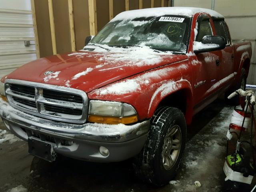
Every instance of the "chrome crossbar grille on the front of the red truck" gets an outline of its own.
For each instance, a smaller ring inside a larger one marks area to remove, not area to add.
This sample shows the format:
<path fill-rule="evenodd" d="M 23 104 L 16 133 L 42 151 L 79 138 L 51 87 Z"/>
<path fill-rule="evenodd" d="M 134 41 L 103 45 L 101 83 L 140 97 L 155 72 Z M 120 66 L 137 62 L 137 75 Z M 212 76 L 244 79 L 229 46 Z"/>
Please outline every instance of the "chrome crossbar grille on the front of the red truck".
<path fill-rule="evenodd" d="M 18 110 L 61 122 L 86 122 L 88 99 L 81 90 L 13 79 L 6 79 L 5 89 Z"/>

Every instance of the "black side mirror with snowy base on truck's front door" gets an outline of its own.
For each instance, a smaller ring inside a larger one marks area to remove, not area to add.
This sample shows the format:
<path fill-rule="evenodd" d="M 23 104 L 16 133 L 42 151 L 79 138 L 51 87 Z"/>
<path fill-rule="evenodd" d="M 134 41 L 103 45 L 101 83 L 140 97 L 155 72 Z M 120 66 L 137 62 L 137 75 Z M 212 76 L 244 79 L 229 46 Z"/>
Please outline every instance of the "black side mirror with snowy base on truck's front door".
<path fill-rule="evenodd" d="M 204 53 L 222 50 L 226 47 L 225 39 L 222 36 L 204 36 L 202 42 L 194 41 L 194 53 Z"/>

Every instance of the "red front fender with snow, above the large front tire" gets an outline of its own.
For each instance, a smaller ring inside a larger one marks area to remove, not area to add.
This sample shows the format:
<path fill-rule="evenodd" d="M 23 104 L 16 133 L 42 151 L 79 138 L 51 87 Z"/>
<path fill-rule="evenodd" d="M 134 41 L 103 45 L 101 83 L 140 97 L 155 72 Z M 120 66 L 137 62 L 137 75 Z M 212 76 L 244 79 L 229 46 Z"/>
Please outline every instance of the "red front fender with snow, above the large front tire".
<path fill-rule="evenodd" d="M 188 60 L 183 60 L 96 89 L 88 93 L 88 98 L 131 104 L 144 120 L 152 117 L 159 102 L 169 94 L 181 89 L 191 92 L 190 82 L 190 66 Z"/>

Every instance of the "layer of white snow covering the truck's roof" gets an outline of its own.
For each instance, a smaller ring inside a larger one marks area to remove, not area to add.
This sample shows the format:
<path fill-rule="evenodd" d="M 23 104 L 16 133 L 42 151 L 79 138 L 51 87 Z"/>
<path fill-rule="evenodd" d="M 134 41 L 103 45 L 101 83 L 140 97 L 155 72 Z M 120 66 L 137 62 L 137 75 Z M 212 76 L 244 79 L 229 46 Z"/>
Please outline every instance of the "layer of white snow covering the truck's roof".
<path fill-rule="evenodd" d="M 140 17 L 163 16 L 163 15 L 182 15 L 193 16 L 196 13 L 207 13 L 216 18 L 224 18 L 222 14 L 210 9 L 195 8 L 195 7 L 158 7 L 124 11 L 115 16 L 111 21 L 128 20 Z"/>

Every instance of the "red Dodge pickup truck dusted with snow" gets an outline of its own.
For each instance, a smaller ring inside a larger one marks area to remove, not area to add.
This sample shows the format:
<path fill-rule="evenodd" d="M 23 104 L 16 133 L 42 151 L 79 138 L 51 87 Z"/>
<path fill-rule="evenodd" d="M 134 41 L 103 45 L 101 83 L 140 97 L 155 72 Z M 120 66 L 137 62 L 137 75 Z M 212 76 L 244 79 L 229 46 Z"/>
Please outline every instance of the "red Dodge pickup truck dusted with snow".
<path fill-rule="evenodd" d="M 83 50 L 40 58 L 2 78 L 0 116 L 29 154 L 93 162 L 134 157 L 166 184 L 186 125 L 220 94 L 245 88 L 250 42 L 233 43 L 221 14 L 150 8 L 118 14 Z"/>

